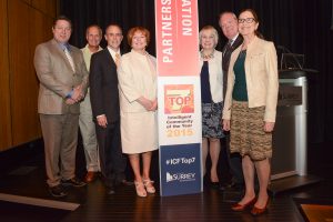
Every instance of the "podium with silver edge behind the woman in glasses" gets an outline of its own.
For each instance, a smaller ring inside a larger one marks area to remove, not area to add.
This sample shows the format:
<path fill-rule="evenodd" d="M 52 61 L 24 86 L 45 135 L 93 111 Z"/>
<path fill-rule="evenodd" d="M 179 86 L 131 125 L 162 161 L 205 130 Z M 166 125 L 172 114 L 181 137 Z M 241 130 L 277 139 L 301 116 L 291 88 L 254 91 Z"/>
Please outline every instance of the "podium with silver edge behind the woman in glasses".
<path fill-rule="evenodd" d="M 276 193 L 317 182 L 307 175 L 307 79 L 315 70 L 290 69 L 279 71 L 279 100 L 273 132 L 271 184 Z"/>

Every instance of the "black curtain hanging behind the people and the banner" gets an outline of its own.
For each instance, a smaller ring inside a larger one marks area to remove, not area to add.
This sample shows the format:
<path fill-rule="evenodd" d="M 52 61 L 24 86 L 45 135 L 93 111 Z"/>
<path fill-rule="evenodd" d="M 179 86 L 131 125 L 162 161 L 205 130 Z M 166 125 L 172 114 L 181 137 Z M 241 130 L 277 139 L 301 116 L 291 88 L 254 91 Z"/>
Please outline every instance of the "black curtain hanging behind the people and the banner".
<path fill-rule="evenodd" d="M 212 24 L 220 33 L 220 12 L 239 14 L 252 8 L 266 40 L 305 56 L 304 67 L 319 71 L 309 75 L 307 139 L 313 143 L 333 141 L 332 0 L 199 0 L 198 4 L 199 26 Z M 134 26 L 148 28 L 152 33 L 148 51 L 155 54 L 154 0 L 60 0 L 60 14 L 72 20 L 71 43 L 79 48 L 85 44 L 85 27 L 97 23 L 104 29 L 108 23 L 117 22 L 124 33 Z M 221 33 L 220 49 L 225 41 Z M 129 51 L 125 39 L 122 48 Z"/>

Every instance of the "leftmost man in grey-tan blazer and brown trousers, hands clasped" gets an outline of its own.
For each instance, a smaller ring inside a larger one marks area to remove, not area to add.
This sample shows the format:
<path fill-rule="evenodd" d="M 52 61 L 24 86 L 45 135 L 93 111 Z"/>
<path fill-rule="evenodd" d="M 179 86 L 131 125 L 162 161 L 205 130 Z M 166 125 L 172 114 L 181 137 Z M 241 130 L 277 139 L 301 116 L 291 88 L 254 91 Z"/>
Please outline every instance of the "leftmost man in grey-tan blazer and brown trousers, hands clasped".
<path fill-rule="evenodd" d="M 68 43 L 71 21 L 58 17 L 52 32 L 53 39 L 37 46 L 33 62 L 40 81 L 38 112 L 44 140 L 47 182 L 53 196 L 64 196 L 64 186 L 85 185 L 75 176 L 75 151 L 78 102 L 87 91 L 88 71 L 81 50 Z"/>

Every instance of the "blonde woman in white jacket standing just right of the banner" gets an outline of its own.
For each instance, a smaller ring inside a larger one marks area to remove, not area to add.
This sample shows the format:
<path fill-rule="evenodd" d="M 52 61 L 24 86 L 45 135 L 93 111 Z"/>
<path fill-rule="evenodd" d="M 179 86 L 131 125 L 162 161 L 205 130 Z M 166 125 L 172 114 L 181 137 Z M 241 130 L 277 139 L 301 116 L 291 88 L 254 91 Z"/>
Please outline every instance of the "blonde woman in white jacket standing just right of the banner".
<path fill-rule="evenodd" d="M 223 107 L 222 53 L 215 50 L 219 41 L 218 31 L 205 26 L 199 32 L 200 40 L 200 79 L 202 102 L 202 168 L 205 174 L 208 152 L 211 157 L 210 184 L 219 188 L 218 162 L 221 150 L 220 139 L 224 138 L 221 128 Z"/>

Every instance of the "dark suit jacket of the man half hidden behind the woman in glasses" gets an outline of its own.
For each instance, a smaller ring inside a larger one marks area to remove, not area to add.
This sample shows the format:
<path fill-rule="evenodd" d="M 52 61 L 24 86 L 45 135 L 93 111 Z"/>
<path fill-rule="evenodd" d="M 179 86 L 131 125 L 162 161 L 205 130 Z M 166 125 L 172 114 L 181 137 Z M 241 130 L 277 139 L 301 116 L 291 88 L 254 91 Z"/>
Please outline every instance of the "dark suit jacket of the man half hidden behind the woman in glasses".
<path fill-rule="evenodd" d="M 243 43 L 243 37 L 241 34 L 238 36 L 238 38 L 234 40 L 231 48 L 226 49 L 226 44 L 223 47 L 223 54 L 222 54 L 222 70 L 223 70 L 223 98 L 225 97 L 226 92 L 226 82 L 228 82 L 228 70 L 230 64 L 230 57 L 231 53 L 239 48 Z"/>

